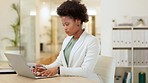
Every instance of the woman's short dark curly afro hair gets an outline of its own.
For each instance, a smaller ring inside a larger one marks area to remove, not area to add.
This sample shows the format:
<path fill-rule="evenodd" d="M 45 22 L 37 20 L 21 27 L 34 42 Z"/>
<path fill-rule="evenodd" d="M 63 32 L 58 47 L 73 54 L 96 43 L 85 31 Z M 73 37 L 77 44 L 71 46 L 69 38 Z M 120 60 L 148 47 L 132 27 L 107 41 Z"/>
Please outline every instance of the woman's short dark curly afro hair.
<path fill-rule="evenodd" d="M 65 1 L 57 8 L 59 16 L 70 16 L 74 19 L 80 19 L 81 23 L 88 22 L 87 9 L 84 4 L 78 1 Z"/>

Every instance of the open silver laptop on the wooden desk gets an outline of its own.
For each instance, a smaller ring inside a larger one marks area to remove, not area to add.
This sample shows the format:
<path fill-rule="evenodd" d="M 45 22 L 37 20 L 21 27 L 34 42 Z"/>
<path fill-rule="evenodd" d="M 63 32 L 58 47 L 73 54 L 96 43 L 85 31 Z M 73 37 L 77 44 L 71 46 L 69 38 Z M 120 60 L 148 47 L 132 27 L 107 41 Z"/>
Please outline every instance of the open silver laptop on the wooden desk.
<path fill-rule="evenodd" d="M 47 78 L 46 76 L 34 75 L 22 55 L 5 53 L 5 56 L 18 75 L 30 78 Z"/>

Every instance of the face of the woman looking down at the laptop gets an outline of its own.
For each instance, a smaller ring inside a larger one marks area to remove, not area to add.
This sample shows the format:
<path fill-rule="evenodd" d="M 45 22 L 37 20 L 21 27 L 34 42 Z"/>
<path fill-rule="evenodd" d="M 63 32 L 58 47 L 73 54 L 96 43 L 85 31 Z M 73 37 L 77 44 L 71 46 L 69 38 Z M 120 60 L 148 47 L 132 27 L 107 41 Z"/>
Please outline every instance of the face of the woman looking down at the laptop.
<path fill-rule="evenodd" d="M 72 35 L 75 36 L 81 29 L 80 20 L 74 20 L 69 16 L 62 16 L 61 21 L 64 26 L 65 33 L 69 36 L 72 36 Z"/>

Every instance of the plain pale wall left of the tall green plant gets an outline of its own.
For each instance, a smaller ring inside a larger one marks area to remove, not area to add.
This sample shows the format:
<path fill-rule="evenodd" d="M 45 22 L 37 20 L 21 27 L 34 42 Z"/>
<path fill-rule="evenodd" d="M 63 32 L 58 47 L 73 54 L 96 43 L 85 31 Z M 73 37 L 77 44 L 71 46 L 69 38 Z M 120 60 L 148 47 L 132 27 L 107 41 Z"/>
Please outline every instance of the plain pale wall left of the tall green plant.
<path fill-rule="evenodd" d="M 4 49 L 6 42 L 1 41 L 2 38 L 14 37 L 11 24 L 15 22 L 17 14 L 11 7 L 13 3 L 18 3 L 18 0 L 2 0 L 0 2 L 0 50 Z"/>

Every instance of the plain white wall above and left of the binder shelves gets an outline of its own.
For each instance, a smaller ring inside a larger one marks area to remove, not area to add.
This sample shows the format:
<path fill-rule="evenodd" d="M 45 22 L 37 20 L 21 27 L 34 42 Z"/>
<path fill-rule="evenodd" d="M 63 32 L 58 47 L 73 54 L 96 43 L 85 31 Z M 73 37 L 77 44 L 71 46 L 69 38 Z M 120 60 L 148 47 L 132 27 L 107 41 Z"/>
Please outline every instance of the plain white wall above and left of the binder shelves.
<path fill-rule="evenodd" d="M 112 54 L 112 19 L 123 22 L 125 16 L 148 16 L 148 0 L 102 0 L 101 43 L 102 55 Z"/>

